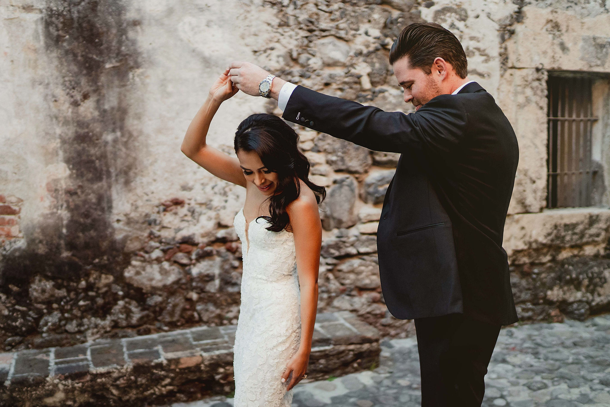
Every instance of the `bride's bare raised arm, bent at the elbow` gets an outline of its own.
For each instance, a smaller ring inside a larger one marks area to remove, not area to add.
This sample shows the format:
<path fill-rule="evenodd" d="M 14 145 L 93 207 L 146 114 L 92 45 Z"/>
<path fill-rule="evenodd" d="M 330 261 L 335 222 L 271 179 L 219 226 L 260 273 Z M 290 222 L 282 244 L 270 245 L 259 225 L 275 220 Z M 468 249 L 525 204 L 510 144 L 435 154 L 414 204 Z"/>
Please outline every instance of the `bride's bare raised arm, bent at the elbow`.
<path fill-rule="evenodd" d="M 212 175 L 245 187 L 246 179 L 239 166 L 239 160 L 206 144 L 207 131 L 218 107 L 239 91 L 229 80 L 228 73 L 227 69 L 210 88 L 205 103 L 188 125 L 180 149 L 185 156 L 201 165 Z"/>

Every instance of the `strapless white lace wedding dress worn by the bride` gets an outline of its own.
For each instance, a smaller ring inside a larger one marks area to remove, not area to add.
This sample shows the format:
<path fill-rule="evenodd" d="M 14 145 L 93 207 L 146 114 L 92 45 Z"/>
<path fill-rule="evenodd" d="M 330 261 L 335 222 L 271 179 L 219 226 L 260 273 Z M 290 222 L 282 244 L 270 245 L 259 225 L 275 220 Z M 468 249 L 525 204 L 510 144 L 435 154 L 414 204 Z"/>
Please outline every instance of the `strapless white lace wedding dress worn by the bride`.
<path fill-rule="evenodd" d="M 234 407 L 290 407 L 287 362 L 301 340 L 300 290 L 291 232 L 271 232 L 267 220 L 246 225 L 243 208 L 234 226 L 242 241 L 242 303 L 234 345 Z M 292 376 L 291 376 L 292 377 Z"/>

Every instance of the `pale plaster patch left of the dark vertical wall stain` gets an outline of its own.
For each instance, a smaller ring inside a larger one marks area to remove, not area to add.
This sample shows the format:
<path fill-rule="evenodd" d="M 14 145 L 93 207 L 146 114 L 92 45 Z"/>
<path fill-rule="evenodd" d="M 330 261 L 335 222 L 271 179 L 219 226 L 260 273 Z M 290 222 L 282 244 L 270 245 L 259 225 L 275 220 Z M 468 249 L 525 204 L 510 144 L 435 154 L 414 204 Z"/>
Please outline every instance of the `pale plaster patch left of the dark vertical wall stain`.
<path fill-rule="evenodd" d="M 19 215 L 16 220 L 20 220 L 32 212 L 49 209 L 47 181 L 61 178 L 65 165 L 58 162 L 57 148 L 49 142 L 55 134 L 51 118 L 46 115 L 46 60 L 40 43 L 41 32 L 35 24 L 40 14 L 34 10 L 23 12 L 6 5 L 1 7 L 0 77 L 5 102 L 0 109 L 3 142 L 0 182 L 2 203 L 22 202 L 18 209 L 22 214 L 15 214 Z M 2 214 L 9 212 L 5 209 Z M 3 224 L 9 222 L 7 218 L 3 220 Z M 28 223 L 26 220 L 24 225 L 3 231 L 12 232 L 11 237 L 23 237 L 23 226 L 27 228 Z"/>

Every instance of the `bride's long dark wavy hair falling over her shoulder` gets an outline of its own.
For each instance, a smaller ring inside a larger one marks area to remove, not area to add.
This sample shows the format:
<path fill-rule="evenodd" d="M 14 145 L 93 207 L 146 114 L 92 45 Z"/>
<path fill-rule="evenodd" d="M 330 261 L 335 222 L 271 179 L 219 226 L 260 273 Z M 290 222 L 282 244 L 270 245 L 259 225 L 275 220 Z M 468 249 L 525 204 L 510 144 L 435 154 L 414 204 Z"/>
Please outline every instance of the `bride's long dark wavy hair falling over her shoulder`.
<path fill-rule="evenodd" d="M 309 160 L 298 142 L 298 134 L 284 120 L 267 113 L 248 116 L 235 132 L 235 153 L 254 151 L 267 170 L 278 174 L 276 189 L 268 198 L 270 216 L 259 216 L 271 223 L 269 231 L 281 232 L 290 223 L 286 207 L 301 193 L 299 179 L 314 191 L 318 203 L 326 196 L 325 187 L 309 181 Z"/>

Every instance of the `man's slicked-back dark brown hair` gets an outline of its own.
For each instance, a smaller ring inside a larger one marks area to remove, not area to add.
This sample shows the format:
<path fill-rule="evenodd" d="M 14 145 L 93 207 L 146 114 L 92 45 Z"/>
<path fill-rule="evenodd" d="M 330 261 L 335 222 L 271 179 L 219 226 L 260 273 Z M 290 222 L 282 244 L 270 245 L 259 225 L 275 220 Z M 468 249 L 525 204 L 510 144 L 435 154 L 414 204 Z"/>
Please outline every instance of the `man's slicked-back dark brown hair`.
<path fill-rule="evenodd" d="M 468 75 L 466 54 L 458 38 L 436 23 L 414 23 L 404 27 L 390 49 L 390 65 L 405 56 L 409 57 L 411 68 L 420 68 L 426 75 L 431 73 L 437 57 L 450 63 L 462 79 Z"/>

